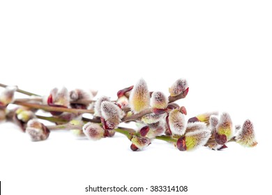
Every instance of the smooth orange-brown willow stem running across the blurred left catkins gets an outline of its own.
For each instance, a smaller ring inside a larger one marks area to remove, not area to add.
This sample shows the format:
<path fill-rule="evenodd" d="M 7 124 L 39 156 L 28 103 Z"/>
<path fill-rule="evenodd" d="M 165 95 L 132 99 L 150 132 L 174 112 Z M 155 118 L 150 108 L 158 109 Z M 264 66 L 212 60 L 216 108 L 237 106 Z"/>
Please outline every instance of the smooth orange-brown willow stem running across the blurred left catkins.
<path fill-rule="evenodd" d="M 50 107 L 50 106 L 43 105 L 43 104 L 31 104 L 28 102 L 15 101 L 15 102 L 13 102 L 13 104 L 21 105 L 23 107 L 29 107 L 32 109 L 42 109 L 44 111 L 69 112 L 69 113 L 73 113 L 73 114 L 84 114 L 84 113 L 93 114 L 94 113 L 93 110 L 89 110 L 89 109 L 68 109 L 68 108 L 62 108 L 62 107 Z"/>

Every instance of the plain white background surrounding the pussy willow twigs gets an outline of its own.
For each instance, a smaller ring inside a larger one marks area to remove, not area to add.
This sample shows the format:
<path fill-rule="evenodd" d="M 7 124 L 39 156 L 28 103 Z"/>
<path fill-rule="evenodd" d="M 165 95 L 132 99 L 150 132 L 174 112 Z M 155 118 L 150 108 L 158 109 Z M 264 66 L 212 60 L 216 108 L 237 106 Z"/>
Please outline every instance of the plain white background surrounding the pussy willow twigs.
<path fill-rule="evenodd" d="M 150 91 L 165 93 L 183 77 L 190 92 L 179 103 L 188 117 L 250 118 L 259 142 L 181 153 L 153 141 L 133 153 L 119 134 L 92 142 L 52 132 L 33 143 L 4 123 L 3 194 L 89 194 L 88 185 L 271 194 L 271 8 L 269 1 L 1 1 L 1 83 L 44 95 L 54 86 L 96 88 L 115 99 L 141 77 Z"/>

